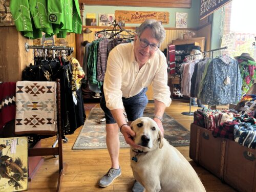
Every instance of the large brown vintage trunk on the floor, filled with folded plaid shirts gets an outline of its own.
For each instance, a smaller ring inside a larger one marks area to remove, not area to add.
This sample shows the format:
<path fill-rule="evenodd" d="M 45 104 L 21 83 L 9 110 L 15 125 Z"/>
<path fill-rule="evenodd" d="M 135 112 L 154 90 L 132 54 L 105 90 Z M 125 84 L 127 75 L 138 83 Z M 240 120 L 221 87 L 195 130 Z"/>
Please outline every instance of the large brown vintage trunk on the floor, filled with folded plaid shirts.
<path fill-rule="evenodd" d="M 256 150 L 194 123 L 190 126 L 189 157 L 241 192 L 256 192 Z"/>

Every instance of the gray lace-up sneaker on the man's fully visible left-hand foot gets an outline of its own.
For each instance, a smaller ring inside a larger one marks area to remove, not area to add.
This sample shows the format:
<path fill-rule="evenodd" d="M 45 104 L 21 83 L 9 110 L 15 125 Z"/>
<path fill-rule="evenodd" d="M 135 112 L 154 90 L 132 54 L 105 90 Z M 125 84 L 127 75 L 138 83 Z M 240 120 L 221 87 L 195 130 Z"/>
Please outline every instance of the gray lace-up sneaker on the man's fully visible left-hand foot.
<path fill-rule="evenodd" d="M 115 169 L 115 168 L 110 168 L 108 173 L 106 173 L 100 180 L 99 180 L 99 186 L 101 187 L 107 187 L 113 181 L 121 175 L 121 168 Z"/>

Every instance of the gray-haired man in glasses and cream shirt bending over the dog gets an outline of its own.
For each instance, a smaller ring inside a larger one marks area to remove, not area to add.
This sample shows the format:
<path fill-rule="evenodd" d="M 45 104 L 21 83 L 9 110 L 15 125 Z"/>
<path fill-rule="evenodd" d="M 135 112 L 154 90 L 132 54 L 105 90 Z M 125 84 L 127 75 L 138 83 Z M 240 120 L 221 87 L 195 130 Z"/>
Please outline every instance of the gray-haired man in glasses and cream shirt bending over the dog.
<path fill-rule="evenodd" d="M 134 42 L 120 44 L 109 54 L 102 89 L 100 106 L 106 118 L 106 145 L 111 157 L 111 168 L 100 181 L 99 186 L 109 186 L 121 175 L 119 166 L 119 129 L 127 144 L 139 148 L 132 139 L 135 133 L 129 126 L 143 116 L 148 103 L 147 86 L 152 83 L 155 103 L 154 120 L 163 133 L 162 116 L 170 105 L 170 91 L 167 86 L 166 57 L 159 50 L 165 38 L 165 30 L 156 20 L 145 20 L 137 29 Z M 127 114 L 128 123 L 123 112 Z M 133 191 L 144 191 L 135 182 Z"/>

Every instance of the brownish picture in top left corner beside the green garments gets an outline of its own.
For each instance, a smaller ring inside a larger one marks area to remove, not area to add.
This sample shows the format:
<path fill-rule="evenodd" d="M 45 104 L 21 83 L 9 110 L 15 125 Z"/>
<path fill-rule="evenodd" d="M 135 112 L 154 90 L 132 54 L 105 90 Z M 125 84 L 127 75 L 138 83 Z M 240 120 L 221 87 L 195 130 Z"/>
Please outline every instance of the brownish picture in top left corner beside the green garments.
<path fill-rule="evenodd" d="M 10 0 L 0 0 L 0 26 L 13 26 Z"/>

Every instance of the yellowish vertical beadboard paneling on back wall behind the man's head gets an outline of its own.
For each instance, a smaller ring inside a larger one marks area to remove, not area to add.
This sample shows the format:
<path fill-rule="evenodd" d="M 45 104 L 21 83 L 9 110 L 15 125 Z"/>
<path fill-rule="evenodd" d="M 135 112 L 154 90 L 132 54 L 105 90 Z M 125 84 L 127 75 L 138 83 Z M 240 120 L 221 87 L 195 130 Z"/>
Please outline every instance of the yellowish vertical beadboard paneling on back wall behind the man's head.
<path fill-rule="evenodd" d="M 88 26 L 90 27 L 90 26 Z M 84 27 L 86 28 L 86 27 Z M 83 40 L 88 40 L 89 42 L 92 42 L 95 40 L 95 32 L 101 31 L 104 28 L 90 28 L 92 31 L 91 33 L 83 33 Z M 135 31 L 135 28 L 130 27 L 131 31 Z M 183 39 L 183 34 L 188 32 L 188 31 L 194 31 L 197 32 L 196 30 L 190 30 L 190 29 L 175 29 L 175 28 L 166 28 L 166 37 L 160 47 L 160 50 L 163 51 L 165 48 L 167 48 L 168 44 L 172 44 L 173 40 L 176 39 Z"/>

